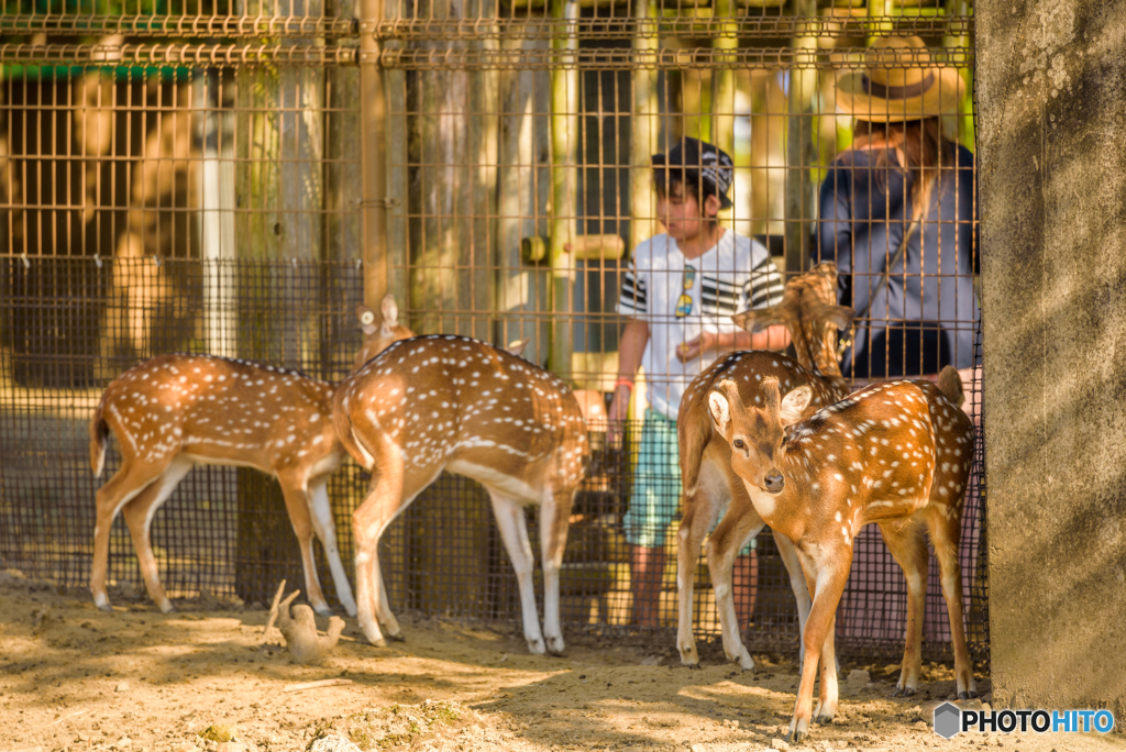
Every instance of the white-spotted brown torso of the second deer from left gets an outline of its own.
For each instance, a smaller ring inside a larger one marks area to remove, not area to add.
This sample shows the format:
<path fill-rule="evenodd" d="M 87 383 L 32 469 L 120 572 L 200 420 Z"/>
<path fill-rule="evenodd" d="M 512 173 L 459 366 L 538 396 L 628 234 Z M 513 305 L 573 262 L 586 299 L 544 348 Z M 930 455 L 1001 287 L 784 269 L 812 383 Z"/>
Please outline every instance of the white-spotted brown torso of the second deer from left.
<path fill-rule="evenodd" d="M 465 337 L 394 343 L 341 384 L 336 413 L 345 446 L 367 467 L 386 451 L 408 473 L 458 463 L 516 481 L 519 495 L 545 482 L 573 489 L 590 455 L 563 381 Z"/>

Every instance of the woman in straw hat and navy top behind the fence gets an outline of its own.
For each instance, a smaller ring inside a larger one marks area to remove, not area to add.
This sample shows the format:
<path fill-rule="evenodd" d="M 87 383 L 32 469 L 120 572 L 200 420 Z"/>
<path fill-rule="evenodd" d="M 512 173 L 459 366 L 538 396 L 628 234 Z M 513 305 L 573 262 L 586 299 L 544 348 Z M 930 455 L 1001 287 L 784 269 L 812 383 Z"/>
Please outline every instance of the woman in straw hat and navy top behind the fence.
<path fill-rule="evenodd" d="M 821 187 L 817 261 L 835 261 L 857 311 L 842 370 L 857 378 L 974 365 L 978 319 L 974 158 L 947 140 L 963 83 L 919 37 L 877 41 L 865 71 L 838 82 L 852 146 Z"/>

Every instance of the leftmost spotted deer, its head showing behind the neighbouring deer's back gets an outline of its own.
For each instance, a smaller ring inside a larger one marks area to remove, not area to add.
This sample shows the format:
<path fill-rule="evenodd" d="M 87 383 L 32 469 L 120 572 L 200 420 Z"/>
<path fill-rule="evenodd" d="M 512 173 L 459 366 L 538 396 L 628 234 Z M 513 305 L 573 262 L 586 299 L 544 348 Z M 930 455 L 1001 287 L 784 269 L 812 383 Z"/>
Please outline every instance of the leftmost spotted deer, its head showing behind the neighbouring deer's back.
<path fill-rule="evenodd" d="M 364 343 L 358 368 L 395 340 L 413 333 L 397 323 L 388 295 L 383 322 L 356 306 Z M 332 428 L 333 386 L 297 371 L 206 355 L 164 355 L 115 378 L 90 421 L 90 466 L 100 476 L 109 432 L 117 437 L 122 466 L 98 490 L 90 590 L 108 610 L 106 569 L 109 529 L 125 514 L 150 598 L 166 614 L 172 603 L 160 584 L 149 528 L 177 484 L 196 465 L 253 467 L 278 478 L 294 532 L 301 543 L 305 592 L 319 614 L 331 614 L 313 561 L 313 534 L 329 559 L 337 594 L 356 614 L 348 576 L 337 549 L 329 504 L 329 476 L 347 455 Z"/>

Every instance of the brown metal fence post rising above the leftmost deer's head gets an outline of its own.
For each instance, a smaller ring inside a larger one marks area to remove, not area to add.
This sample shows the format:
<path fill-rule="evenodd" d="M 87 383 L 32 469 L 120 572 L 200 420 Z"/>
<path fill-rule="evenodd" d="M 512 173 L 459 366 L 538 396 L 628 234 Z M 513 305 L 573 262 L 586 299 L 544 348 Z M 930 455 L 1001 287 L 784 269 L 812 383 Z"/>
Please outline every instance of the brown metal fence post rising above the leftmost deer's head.
<path fill-rule="evenodd" d="M 377 36 L 384 0 L 359 2 L 360 173 L 364 302 L 378 310 L 387 294 L 387 106 Z"/>

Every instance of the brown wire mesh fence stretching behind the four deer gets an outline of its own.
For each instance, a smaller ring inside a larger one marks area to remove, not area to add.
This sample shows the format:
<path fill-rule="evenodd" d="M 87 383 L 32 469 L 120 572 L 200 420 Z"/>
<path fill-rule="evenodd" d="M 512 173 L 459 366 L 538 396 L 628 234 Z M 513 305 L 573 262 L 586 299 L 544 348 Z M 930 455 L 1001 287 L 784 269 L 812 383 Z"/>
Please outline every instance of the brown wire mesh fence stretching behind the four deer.
<path fill-rule="evenodd" d="M 863 292 L 879 298 L 873 289 L 895 267 L 883 307 L 858 317 L 846 376 L 932 375 L 947 362 L 980 362 L 980 316 L 966 299 L 976 270 L 969 3 L 373 8 L 90 0 L 12 3 L 0 14 L 3 566 L 63 585 L 88 581 L 101 481 L 89 471 L 87 421 L 118 374 L 143 358 L 196 351 L 336 382 L 359 346 L 354 305 L 385 290 L 420 333 L 501 344 L 528 338 L 526 357 L 605 410 L 624 368 L 631 316 L 622 299 L 628 275 L 640 278 L 636 249 L 654 238 L 670 248 L 652 155 L 667 156 L 682 136 L 730 155 L 731 206 L 717 226 L 745 239 L 739 242 L 756 268 L 767 260 L 780 278 L 831 258 L 842 270 L 841 302 L 860 308 Z M 922 46 L 890 61 L 868 55 L 878 39 L 910 35 Z M 904 153 L 908 136 L 860 132 L 842 109 L 849 77 L 867 75 L 870 93 L 873 80 L 887 79 L 877 71 L 906 70 L 921 71 L 922 82 L 946 70 L 962 80 L 941 89 L 940 149 L 921 156 Z M 372 91 L 382 92 L 375 114 Z M 841 161 L 860 152 L 894 156 Z M 372 169 L 378 160 L 382 168 Z M 914 174 L 897 167 L 910 160 Z M 932 174 L 936 209 L 904 241 L 908 261 L 896 266 L 895 239 L 906 234 L 918 198 L 909 183 Z M 855 191 L 859 177 L 892 183 L 900 203 L 863 216 L 826 212 L 826 186 L 848 182 Z M 704 180 L 694 179 L 699 194 Z M 858 240 L 877 225 L 892 230 Z M 744 279 L 750 268 L 709 258 L 682 290 L 690 265 L 649 272 L 654 301 L 659 288 L 691 299 L 687 316 L 652 311 L 652 335 L 664 337 L 669 352 L 699 331 L 735 335 L 726 315 L 770 299 L 756 297 L 758 283 Z M 750 284 L 745 301 L 727 295 L 736 277 Z M 637 293 L 634 285 L 634 313 Z M 892 305 L 896 296 L 917 307 Z M 661 528 L 649 531 L 660 541 L 651 547 L 665 555 L 646 576 L 660 576 L 661 628 L 674 624 L 680 483 L 674 442 L 663 458 L 641 450 L 645 423 L 655 424 L 645 408 L 717 355 L 704 353 L 676 378 L 647 368 L 626 441 L 592 433 L 562 581 L 570 628 L 640 628 L 635 546 L 623 521 L 638 477 L 672 510 L 668 521 L 649 522 Z M 967 385 L 978 399 L 977 382 Z M 111 453 L 104 477 L 116 462 Z M 978 449 L 975 478 L 982 466 Z M 367 482 L 349 465 L 329 486 L 346 562 L 350 513 Z M 971 486 L 960 561 L 972 648 L 988 659 L 983 489 Z M 153 522 L 170 594 L 265 601 L 280 579 L 300 582 L 284 509 L 277 484 L 253 471 L 189 474 Z M 517 589 L 502 549 L 484 491 L 444 475 L 384 537 L 392 603 L 515 623 Z M 838 617 L 842 651 L 894 656 L 903 576 L 874 529 L 857 536 L 855 554 Z M 796 647 L 796 609 L 769 530 L 735 576 L 751 648 Z M 141 582 L 122 520 L 110 537 L 110 580 Z M 938 582 L 932 566 L 926 644 L 929 655 L 947 657 Z M 695 611 L 697 633 L 717 634 L 703 559 Z"/>

